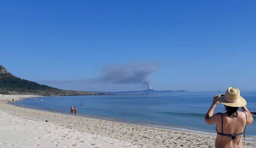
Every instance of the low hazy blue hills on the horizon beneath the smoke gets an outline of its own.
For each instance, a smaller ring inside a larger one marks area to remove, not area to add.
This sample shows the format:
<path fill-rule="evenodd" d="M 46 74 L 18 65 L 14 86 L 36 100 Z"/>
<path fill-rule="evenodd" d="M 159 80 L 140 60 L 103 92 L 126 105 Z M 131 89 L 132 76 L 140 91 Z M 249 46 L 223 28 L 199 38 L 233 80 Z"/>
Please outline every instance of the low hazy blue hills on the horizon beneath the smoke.
<path fill-rule="evenodd" d="M 171 93 L 171 92 L 187 92 L 185 90 L 154 90 L 154 89 L 146 89 L 146 90 L 138 90 L 138 91 L 119 91 L 119 92 L 104 92 L 110 94 L 150 94 L 150 93 Z"/>

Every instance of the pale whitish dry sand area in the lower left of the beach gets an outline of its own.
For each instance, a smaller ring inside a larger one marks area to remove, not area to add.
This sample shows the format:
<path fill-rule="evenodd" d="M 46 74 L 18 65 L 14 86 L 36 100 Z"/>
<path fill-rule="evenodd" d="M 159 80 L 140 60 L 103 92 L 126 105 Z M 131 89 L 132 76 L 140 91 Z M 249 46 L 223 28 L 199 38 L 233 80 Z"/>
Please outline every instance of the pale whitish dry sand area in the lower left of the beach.
<path fill-rule="evenodd" d="M 54 123 L 24 119 L 0 111 L 0 147 L 134 147 L 138 144 L 91 134 Z M 3 134 L 4 133 L 4 134 Z"/>

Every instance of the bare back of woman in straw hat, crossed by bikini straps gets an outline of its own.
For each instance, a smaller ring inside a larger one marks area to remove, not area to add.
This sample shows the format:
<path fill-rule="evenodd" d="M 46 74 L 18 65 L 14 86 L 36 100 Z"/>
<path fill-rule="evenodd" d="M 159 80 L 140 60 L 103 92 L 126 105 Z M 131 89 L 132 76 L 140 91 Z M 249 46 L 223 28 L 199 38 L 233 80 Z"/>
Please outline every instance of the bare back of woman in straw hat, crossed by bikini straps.
<path fill-rule="evenodd" d="M 224 114 L 219 113 L 218 115 L 219 115 L 219 121 L 217 122 L 216 129 L 219 134 L 217 134 L 217 137 L 215 140 L 215 147 L 216 148 L 243 148 L 242 139 L 243 139 L 244 128 L 246 126 L 246 121 L 247 121 L 246 112 L 239 111 L 237 112 L 236 117 L 228 116 L 227 113 L 224 113 Z M 223 118 L 223 121 L 221 121 L 221 116 Z M 223 124 L 221 125 L 222 122 Z M 220 133 L 223 133 L 224 135 L 221 135 Z M 232 138 L 234 140 L 232 140 Z"/>

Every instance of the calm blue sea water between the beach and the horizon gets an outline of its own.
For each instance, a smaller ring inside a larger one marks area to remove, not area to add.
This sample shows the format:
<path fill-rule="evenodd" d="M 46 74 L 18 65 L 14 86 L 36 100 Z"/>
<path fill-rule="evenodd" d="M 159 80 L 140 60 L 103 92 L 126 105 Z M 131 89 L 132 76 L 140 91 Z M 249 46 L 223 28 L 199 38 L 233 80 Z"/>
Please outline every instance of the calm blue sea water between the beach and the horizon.
<path fill-rule="evenodd" d="M 225 94 L 225 92 L 220 92 Z M 218 92 L 174 92 L 155 94 L 118 94 L 90 96 L 52 96 L 27 98 L 14 105 L 69 114 L 76 106 L 79 116 L 147 125 L 166 129 L 216 134 L 215 125 L 207 125 L 204 116 Z M 243 91 L 247 108 L 256 112 L 256 91 Z M 82 100 L 82 101 L 81 101 Z M 81 103 L 84 106 L 81 106 Z M 219 104 L 214 113 L 224 112 Z M 255 123 L 247 125 L 247 139 L 256 140 Z"/>

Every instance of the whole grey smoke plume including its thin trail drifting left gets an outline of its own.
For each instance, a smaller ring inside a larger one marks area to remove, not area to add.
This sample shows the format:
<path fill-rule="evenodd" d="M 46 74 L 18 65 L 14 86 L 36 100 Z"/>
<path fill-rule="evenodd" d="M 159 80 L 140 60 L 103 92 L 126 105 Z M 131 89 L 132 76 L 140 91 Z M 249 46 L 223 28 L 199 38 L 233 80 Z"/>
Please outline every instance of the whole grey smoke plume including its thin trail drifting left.
<path fill-rule="evenodd" d="M 100 89 L 100 84 L 135 84 L 141 87 L 152 88 L 151 74 L 158 71 L 158 69 L 159 66 L 156 63 L 106 65 L 101 69 L 100 76 L 93 79 L 66 81 L 44 80 L 36 82 L 60 89 L 73 90 L 87 90 L 88 88 L 96 90 Z"/>

